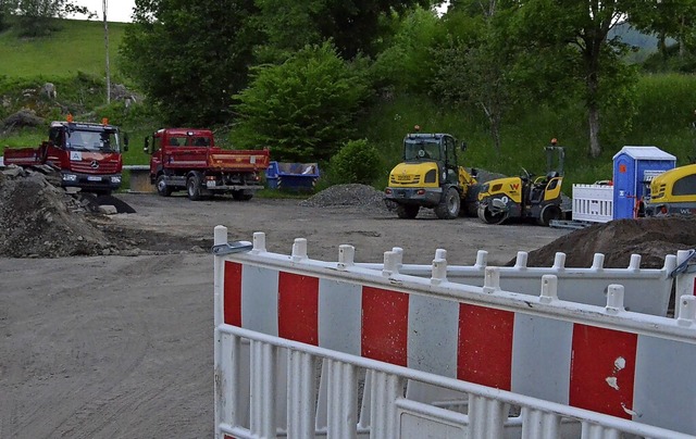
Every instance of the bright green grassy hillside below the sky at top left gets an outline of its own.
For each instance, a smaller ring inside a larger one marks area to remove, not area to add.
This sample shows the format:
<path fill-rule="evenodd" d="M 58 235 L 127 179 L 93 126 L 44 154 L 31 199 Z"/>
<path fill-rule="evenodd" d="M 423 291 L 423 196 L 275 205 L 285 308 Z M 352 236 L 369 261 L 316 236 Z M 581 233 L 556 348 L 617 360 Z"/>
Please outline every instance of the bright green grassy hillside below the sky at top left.
<path fill-rule="evenodd" d="M 104 30 L 101 22 L 59 21 L 61 29 L 48 38 L 20 39 L 12 29 L 0 34 L 0 76 L 73 76 L 78 71 L 104 76 Z M 117 71 L 117 50 L 127 23 L 109 23 L 111 72 Z"/>

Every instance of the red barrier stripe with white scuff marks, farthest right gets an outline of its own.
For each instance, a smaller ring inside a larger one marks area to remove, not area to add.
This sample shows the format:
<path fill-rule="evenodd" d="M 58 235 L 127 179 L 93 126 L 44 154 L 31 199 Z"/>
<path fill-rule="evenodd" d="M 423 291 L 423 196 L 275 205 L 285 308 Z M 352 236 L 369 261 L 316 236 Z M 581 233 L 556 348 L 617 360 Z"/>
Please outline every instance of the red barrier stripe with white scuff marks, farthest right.
<path fill-rule="evenodd" d="M 570 405 L 631 419 L 638 336 L 574 324 Z"/>

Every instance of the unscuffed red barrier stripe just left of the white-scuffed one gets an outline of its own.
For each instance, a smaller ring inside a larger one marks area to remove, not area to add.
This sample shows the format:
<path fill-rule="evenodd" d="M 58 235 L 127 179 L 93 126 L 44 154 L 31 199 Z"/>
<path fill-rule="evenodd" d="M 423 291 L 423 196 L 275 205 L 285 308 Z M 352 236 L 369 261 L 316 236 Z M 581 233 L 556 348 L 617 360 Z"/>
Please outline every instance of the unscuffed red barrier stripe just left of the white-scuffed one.
<path fill-rule="evenodd" d="M 510 390 L 514 313 L 459 305 L 457 378 Z"/>

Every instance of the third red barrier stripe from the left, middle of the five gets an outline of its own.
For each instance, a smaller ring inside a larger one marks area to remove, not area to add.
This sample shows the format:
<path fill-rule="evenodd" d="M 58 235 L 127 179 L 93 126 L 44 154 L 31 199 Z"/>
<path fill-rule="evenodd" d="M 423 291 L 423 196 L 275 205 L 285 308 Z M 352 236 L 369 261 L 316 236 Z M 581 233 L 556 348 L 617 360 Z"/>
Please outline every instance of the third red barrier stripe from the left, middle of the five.
<path fill-rule="evenodd" d="M 407 366 L 409 294 L 362 287 L 361 355 Z"/>

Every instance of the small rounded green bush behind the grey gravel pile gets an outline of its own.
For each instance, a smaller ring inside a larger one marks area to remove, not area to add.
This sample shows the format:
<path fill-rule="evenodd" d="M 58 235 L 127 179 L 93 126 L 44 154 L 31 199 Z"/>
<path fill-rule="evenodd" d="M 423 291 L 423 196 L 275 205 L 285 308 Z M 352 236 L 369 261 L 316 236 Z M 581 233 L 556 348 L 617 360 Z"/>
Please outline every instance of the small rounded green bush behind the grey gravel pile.
<path fill-rule="evenodd" d="M 334 185 L 371 185 L 381 171 L 380 152 L 366 139 L 350 140 L 330 161 L 330 181 Z"/>

